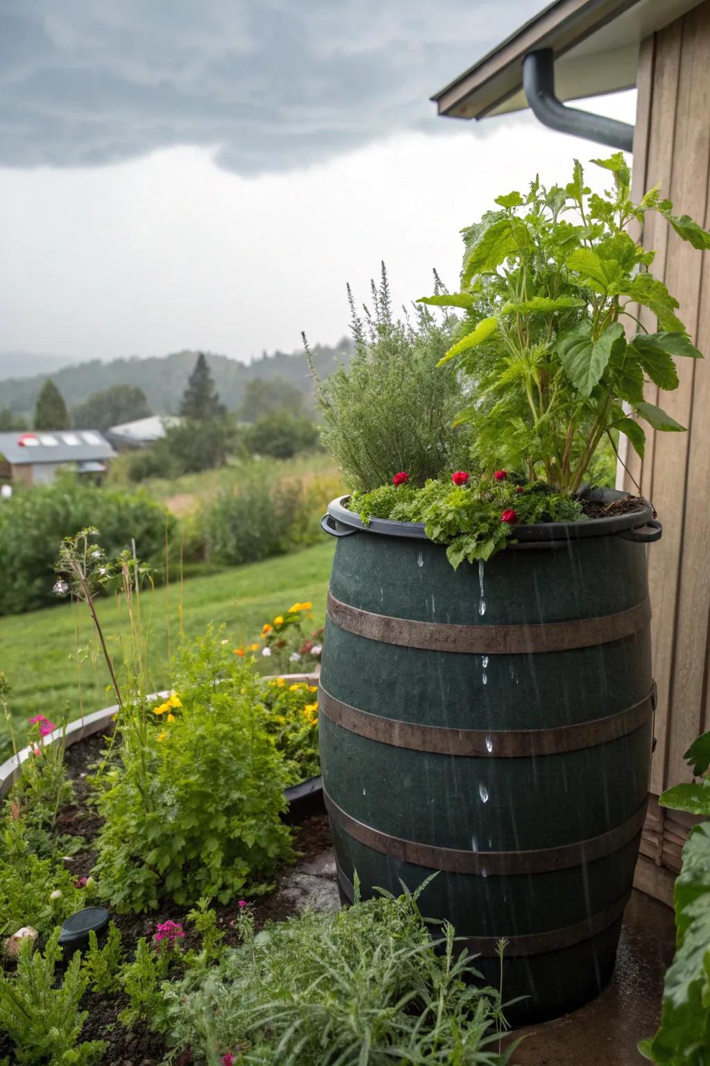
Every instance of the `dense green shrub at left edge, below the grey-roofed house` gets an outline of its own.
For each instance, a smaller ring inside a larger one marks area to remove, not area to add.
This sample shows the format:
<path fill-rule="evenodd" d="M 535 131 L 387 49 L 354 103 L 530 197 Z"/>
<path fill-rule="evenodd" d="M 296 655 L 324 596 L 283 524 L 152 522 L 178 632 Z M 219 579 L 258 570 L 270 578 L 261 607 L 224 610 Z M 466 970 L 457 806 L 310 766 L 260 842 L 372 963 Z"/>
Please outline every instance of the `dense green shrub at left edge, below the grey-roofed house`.
<path fill-rule="evenodd" d="M 98 527 L 109 555 L 131 548 L 160 567 L 166 528 L 175 518 L 147 495 L 86 485 L 73 478 L 37 485 L 0 501 L 0 615 L 32 611 L 55 601 L 54 561 L 64 537 Z"/>

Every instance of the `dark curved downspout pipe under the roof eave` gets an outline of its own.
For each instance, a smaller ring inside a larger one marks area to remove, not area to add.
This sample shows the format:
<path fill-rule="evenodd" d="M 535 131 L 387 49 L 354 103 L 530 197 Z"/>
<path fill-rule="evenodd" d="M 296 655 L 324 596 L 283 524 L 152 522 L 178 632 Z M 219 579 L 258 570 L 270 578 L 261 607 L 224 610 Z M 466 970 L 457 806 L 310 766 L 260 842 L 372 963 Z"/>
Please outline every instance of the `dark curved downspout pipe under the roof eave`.
<path fill-rule="evenodd" d="M 533 115 L 550 129 L 588 141 L 633 151 L 633 126 L 591 111 L 567 108 L 555 95 L 555 55 L 551 48 L 528 52 L 523 60 L 523 87 Z"/>

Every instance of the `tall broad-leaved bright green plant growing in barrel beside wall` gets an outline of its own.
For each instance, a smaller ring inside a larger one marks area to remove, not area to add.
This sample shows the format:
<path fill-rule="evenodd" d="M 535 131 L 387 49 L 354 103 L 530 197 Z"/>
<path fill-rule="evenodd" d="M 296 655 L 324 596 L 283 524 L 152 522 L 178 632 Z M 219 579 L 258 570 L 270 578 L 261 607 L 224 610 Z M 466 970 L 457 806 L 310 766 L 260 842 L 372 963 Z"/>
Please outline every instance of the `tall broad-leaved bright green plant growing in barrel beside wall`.
<path fill-rule="evenodd" d="M 613 175 L 602 196 L 590 193 L 578 162 L 564 188 L 547 190 L 535 178 L 526 196 L 498 196 L 496 210 L 463 230 L 461 291 L 423 301 L 464 311 L 440 364 L 455 361 L 467 377 L 472 402 L 460 419 L 470 429 L 474 461 L 486 471 L 525 470 L 528 480 L 568 492 L 613 431 L 643 455 L 639 419 L 682 430 L 644 399 L 644 383 L 675 389 L 675 359 L 700 356 L 678 302 L 649 271 L 654 252 L 626 227 L 658 211 L 682 240 L 710 248 L 710 233 L 675 216 L 657 188 L 631 200 L 621 152 L 594 162 Z M 658 332 L 639 322 L 637 304 L 653 312 Z M 640 326 L 632 340 L 625 322 Z"/>

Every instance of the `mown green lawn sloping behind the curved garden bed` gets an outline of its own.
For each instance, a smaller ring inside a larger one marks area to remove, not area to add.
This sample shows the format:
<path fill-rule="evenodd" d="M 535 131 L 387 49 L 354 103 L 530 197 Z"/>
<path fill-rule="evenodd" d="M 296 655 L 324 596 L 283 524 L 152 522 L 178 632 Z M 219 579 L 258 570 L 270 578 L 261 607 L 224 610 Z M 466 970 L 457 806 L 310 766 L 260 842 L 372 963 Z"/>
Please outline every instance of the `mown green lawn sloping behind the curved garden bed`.
<path fill-rule="evenodd" d="M 255 640 L 263 623 L 295 600 L 313 602 L 315 629 L 325 617 L 332 555 L 333 542 L 327 538 L 293 555 L 191 578 L 182 586 L 186 636 L 203 633 L 212 623 L 224 624 L 235 644 Z M 179 640 L 180 586 L 142 593 L 141 601 L 150 633 L 148 683 L 163 689 L 168 680 L 168 619 L 172 651 Z M 120 662 L 120 642 L 127 633 L 125 604 L 106 597 L 99 600 L 98 611 L 112 656 Z M 83 649 L 80 667 L 78 647 Z M 24 723 L 34 714 L 45 714 L 56 724 L 65 714 L 78 717 L 80 692 L 86 714 L 115 702 L 85 604 L 65 603 L 0 618 L 0 669 L 11 687 L 10 707 L 22 744 Z M 0 718 L 0 759 L 9 753 L 10 729 Z"/>

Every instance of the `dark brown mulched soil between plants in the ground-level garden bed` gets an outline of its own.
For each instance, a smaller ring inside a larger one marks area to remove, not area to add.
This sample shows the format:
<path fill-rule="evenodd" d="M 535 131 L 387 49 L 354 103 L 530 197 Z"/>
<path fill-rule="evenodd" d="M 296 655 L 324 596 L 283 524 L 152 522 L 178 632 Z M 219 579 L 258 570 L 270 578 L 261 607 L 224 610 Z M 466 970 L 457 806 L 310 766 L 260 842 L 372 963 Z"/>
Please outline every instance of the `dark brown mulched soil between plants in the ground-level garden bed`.
<path fill-rule="evenodd" d="M 101 819 L 88 805 L 90 787 L 87 777 L 93 773 L 104 746 L 104 739 L 99 733 L 68 747 L 65 761 L 69 777 L 75 785 L 75 803 L 57 815 L 57 830 L 62 834 L 81 836 L 87 846 L 71 856 L 66 865 L 76 877 L 89 874 L 94 866 L 95 852 L 92 841 L 101 826 Z M 328 818 L 325 813 L 313 814 L 300 825 L 294 826 L 294 846 L 299 856 L 299 863 L 309 862 L 330 847 Z M 287 893 L 279 892 L 280 882 L 293 867 L 284 867 L 277 876 L 277 885 L 268 895 L 253 901 L 254 926 L 257 931 L 263 927 L 267 920 L 282 921 L 296 914 L 296 906 Z M 127 957 L 132 957 L 136 941 L 142 936 L 151 936 L 155 926 L 168 919 L 181 922 L 185 930 L 183 944 L 188 948 L 199 948 L 199 937 L 191 931 L 191 924 L 185 921 L 188 906 L 166 903 L 149 915 L 112 915 L 111 920 L 120 930 L 121 941 Z M 237 912 L 236 901 L 227 906 L 215 905 L 217 923 L 225 933 L 225 944 L 237 947 L 240 939 L 234 927 Z M 87 992 L 81 1003 L 81 1010 L 88 1011 L 88 1017 L 82 1029 L 84 1040 L 108 1040 L 109 1047 L 101 1060 L 103 1066 L 159 1066 L 166 1054 L 163 1036 L 152 1033 L 144 1022 L 136 1022 L 132 1029 L 126 1029 L 117 1020 L 117 1015 L 128 1005 L 125 996 L 102 997 Z M 14 1062 L 13 1046 L 9 1038 L 0 1033 L 0 1061 L 3 1055 Z M 185 1061 L 185 1066 L 189 1062 Z"/>

